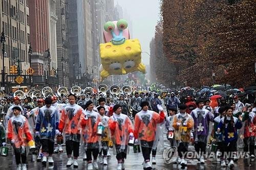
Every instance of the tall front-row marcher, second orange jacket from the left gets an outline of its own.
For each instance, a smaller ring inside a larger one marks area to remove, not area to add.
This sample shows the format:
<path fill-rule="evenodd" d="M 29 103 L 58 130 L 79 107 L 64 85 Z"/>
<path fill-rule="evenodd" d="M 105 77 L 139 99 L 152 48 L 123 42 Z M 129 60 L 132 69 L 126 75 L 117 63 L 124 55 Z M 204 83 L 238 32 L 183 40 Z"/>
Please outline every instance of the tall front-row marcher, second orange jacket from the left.
<path fill-rule="evenodd" d="M 78 129 L 78 123 L 82 114 L 82 108 L 75 104 L 75 102 L 76 96 L 74 94 L 69 94 L 69 104 L 63 108 L 61 113 L 59 131 L 65 131 L 66 150 L 68 155 L 67 167 L 74 164 L 74 168 L 77 168 L 80 144 L 80 130 Z M 71 157 L 72 151 L 74 161 Z"/>

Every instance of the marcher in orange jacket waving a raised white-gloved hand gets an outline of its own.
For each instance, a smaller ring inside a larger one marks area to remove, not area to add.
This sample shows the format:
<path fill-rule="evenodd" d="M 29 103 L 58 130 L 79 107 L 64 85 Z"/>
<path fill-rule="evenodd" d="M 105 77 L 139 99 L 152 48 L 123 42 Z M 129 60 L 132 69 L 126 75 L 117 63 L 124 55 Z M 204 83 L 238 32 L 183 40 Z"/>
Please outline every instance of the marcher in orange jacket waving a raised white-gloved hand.
<path fill-rule="evenodd" d="M 160 114 L 148 110 L 148 102 L 142 102 L 142 110 L 135 115 L 134 129 L 136 142 L 140 140 L 142 155 L 144 157 L 143 168 L 152 169 L 150 165 L 150 154 L 155 140 L 157 124 L 162 123 L 165 117 L 163 109 L 158 105 Z M 115 106 L 114 106 L 115 107 Z"/>

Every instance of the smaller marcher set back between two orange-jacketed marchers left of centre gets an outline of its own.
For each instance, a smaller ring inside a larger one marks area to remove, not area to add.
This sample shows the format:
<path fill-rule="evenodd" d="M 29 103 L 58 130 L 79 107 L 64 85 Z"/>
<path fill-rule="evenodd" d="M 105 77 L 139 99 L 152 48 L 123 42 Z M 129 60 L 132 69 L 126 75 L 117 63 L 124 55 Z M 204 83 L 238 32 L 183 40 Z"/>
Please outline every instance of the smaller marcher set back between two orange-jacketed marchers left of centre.
<path fill-rule="evenodd" d="M 102 150 L 99 153 L 99 162 L 103 163 L 103 165 L 108 165 L 108 161 L 107 161 L 107 156 L 108 156 L 108 151 L 109 151 L 109 147 L 111 145 L 111 139 L 110 139 L 110 133 L 109 133 L 109 117 L 105 115 L 105 108 L 102 106 L 99 106 L 98 108 L 98 112 L 101 115 L 101 122 L 104 126 L 104 131 L 101 135 L 101 145 L 102 145 Z M 101 152 L 103 152 L 103 159 L 101 156 Z"/>

